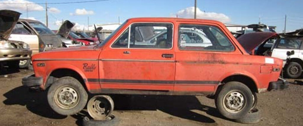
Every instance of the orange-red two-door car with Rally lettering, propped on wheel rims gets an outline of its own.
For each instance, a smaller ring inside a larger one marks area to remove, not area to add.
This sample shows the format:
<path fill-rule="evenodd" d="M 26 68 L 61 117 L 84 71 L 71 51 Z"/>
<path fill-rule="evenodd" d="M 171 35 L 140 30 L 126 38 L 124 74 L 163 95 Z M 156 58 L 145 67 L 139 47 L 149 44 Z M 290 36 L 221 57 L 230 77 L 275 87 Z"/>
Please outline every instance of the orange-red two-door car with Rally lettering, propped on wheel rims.
<path fill-rule="evenodd" d="M 140 28 L 147 30 L 136 32 Z M 192 40 L 181 29 L 199 29 L 211 45 L 187 44 Z M 138 42 L 140 36 L 152 38 L 160 32 L 166 34 L 155 45 Z M 35 74 L 23 78 L 23 85 L 49 88 L 48 103 L 62 115 L 81 111 L 88 93 L 215 95 L 218 111 L 236 119 L 254 108 L 255 93 L 288 88 L 279 79 L 281 59 L 250 55 L 221 22 L 211 20 L 132 18 L 97 46 L 49 50 L 32 61 Z M 97 95 L 88 112 L 95 118 L 108 115 L 111 101 Z"/>

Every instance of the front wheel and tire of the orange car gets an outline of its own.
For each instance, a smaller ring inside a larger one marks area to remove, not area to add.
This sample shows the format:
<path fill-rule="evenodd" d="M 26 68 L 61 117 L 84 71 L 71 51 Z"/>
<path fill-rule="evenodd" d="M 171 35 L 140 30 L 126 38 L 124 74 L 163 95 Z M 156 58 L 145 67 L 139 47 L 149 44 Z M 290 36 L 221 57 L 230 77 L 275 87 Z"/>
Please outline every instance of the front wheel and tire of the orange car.
<path fill-rule="evenodd" d="M 74 105 L 71 107 L 64 105 L 62 100 L 60 101 L 63 98 L 65 102 L 67 101 Z M 71 102 L 71 99 L 76 100 Z M 47 93 L 48 104 L 55 112 L 61 115 L 73 115 L 80 112 L 85 107 L 87 99 L 88 94 L 82 84 L 77 79 L 69 76 L 56 80 Z"/>

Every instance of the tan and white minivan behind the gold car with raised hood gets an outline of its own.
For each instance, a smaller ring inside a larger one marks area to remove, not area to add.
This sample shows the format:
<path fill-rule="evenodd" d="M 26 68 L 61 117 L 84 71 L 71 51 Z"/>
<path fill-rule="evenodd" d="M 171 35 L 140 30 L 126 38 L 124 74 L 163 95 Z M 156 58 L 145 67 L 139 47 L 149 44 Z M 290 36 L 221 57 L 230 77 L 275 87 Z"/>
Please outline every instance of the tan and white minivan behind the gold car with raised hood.
<path fill-rule="evenodd" d="M 40 21 L 19 19 L 9 40 L 23 41 L 29 44 L 33 54 L 62 47 L 62 41 Z M 21 60 L 19 66 L 27 67 L 30 60 Z"/>

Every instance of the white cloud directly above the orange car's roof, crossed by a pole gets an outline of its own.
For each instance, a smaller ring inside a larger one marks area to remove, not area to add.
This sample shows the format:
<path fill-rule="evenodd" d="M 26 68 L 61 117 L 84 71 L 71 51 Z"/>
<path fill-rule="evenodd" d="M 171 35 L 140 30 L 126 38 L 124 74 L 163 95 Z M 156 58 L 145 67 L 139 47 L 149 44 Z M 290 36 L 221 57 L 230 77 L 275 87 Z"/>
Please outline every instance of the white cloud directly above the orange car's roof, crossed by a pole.
<path fill-rule="evenodd" d="M 188 7 L 177 12 L 179 18 L 194 18 L 194 14 L 195 14 L 195 7 Z M 197 18 L 211 19 L 221 22 L 231 21 L 231 19 L 224 14 L 215 13 L 215 12 L 203 12 L 199 8 L 197 8 Z"/>

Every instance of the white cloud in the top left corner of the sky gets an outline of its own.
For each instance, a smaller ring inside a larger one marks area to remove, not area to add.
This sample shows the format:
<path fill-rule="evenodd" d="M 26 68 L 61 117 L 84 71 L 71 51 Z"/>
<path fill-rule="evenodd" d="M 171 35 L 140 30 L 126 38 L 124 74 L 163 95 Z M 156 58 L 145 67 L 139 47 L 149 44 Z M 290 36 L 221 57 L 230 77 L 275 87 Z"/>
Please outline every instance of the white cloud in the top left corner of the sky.
<path fill-rule="evenodd" d="M 23 4 L 4 4 L 4 3 L 23 3 Z M 28 4 L 28 5 L 26 5 Z M 27 7 L 26 7 L 27 6 Z M 43 11 L 44 8 L 41 5 L 34 4 L 34 2 L 26 0 L 4 0 L 0 1 L 1 9 L 10 9 L 15 11 Z"/>

